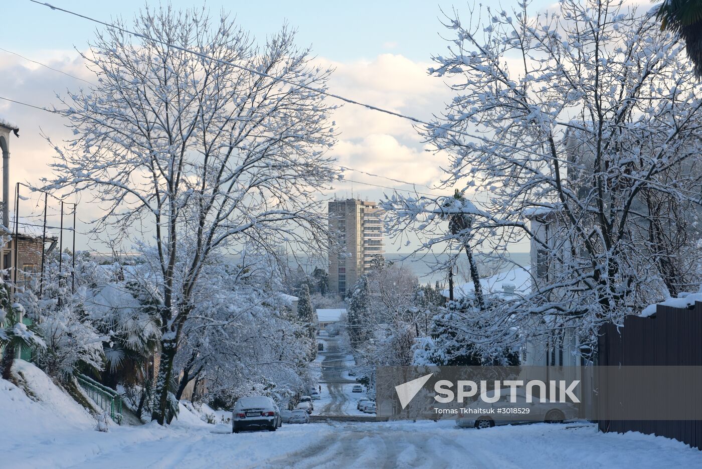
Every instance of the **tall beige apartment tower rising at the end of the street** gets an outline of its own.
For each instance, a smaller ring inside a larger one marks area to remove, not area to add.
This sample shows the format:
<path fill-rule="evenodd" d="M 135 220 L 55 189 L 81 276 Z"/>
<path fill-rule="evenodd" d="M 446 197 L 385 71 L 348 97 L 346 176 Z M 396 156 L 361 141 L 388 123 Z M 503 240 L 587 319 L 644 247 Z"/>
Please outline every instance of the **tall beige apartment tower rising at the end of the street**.
<path fill-rule="evenodd" d="M 329 202 L 329 291 L 345 293 L 385 253 L 382 209 L 357 199 Z"/>

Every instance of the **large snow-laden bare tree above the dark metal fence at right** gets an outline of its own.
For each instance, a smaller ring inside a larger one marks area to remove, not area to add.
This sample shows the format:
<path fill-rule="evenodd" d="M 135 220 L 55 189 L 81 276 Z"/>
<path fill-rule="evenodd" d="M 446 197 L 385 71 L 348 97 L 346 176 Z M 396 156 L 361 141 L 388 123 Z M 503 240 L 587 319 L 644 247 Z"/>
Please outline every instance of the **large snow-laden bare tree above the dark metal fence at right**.
<path fill-rule="evenodd" d="M 461 333 L 484 349 L 566 327 L 589 338 L 699 283 L 702 95 L 684 45 L 618 1 L 555 8 L 448 18 L 449 51 L 430 73 L 456 97 L 422 131 L 465 199 L 383 204 L 396 234 L 420 230 L 423 249 L 452 259 L 468 245 L 508 265 L 510 246 L 531 242 L 531 292 L 463 315 Z M 470 226 L 449 230 L 457 213 Z"/>

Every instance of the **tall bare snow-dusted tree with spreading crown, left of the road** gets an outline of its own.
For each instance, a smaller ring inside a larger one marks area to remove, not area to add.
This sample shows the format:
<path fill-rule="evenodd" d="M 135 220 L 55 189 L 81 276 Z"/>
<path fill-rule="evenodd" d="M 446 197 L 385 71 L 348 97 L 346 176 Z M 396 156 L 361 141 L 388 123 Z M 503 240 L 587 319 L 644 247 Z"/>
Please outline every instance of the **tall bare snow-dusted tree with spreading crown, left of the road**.
<path fill-rule="evenodd" d="M 105 213 L 98 229 L 154 240 L 161 366 L 153 418 L 164 423 L 208 258 L 245 244 L 271 253 L 286 244 L 324 248 L 313 194 L 336 176 L 326 156 L 333 106 L 310 91 L 326 87 L 329 70 L 311 65 L 287 27 L 256 46 L 226 15 L 211 21 L 164 7 L 142 11 L 132 29 L 140 36 L 99 33 L 84 56 L 96 84 L 62 101 L 75 137 L 55 146 L 47 187 L 91 192 Z"/>

